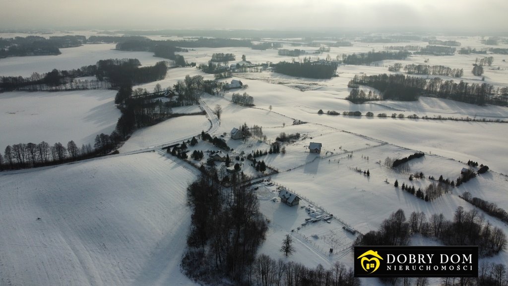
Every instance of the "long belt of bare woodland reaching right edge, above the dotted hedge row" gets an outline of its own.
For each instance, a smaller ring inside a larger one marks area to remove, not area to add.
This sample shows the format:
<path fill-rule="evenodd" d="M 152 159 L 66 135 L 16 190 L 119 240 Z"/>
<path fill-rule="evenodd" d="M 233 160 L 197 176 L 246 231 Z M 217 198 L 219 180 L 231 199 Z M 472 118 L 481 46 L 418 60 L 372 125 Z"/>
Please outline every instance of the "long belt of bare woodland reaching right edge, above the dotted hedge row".
<path fill-rule="evenodd" d="M 466 103 L 483 105 L 486 103 L 506 105 L 508 88 L 498 89 L 488 83 L 469 83 L 453 80 L 442 80 L 439 77 L 425 79 L 406 75 L 355 75 L 348 83 L 350 88 L 367 85 L 383 93 L 383 99 L 402 101 L 417 100 L 420 94 L 431 94 L 438 98 L 452 99 Z"/>

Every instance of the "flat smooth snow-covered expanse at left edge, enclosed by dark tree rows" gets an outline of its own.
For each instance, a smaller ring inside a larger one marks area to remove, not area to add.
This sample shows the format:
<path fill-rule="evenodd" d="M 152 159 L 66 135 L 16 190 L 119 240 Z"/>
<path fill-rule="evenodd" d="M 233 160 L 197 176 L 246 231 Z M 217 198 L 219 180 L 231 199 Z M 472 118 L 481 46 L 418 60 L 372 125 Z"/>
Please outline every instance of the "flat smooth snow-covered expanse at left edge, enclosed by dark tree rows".
<path fill-rule="evenodd" d="M 74 140 L 91 144 L 97 134 L 115 130 L 120 110 L 115 91 L 0 93 L 0 150 L 28 142 L 50 145 Z"/>

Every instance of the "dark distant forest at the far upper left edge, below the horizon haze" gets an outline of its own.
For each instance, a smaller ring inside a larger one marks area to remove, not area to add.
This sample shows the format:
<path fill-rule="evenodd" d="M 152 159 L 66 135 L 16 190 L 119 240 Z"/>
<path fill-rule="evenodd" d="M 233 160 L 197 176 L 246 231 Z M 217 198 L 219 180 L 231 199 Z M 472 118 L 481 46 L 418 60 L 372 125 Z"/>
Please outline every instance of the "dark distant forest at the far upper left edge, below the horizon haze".
<path fill-rule="evenodd" d="M 46 39 L 40 36 L 0 38 L 0 58 L 8 56 L 56 55 L 59 48 L 81 46 L 85 36 L 58 36 Z"/>

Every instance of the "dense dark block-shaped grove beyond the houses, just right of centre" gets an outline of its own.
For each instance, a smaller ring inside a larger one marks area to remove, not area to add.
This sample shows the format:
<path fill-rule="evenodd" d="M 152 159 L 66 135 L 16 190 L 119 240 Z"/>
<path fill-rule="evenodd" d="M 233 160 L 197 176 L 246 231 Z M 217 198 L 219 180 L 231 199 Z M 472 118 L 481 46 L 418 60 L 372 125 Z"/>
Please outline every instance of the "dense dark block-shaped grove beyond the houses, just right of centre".
<path fill-rule="evenodd" d="M 275 72 L 310 78 L 331 78 L 335 75 L 335 70 L 337 70 L 337 64 L 331 62 L 319 63 L 307 61 L 305 63 L 280 62 L 275 64 Z"/>

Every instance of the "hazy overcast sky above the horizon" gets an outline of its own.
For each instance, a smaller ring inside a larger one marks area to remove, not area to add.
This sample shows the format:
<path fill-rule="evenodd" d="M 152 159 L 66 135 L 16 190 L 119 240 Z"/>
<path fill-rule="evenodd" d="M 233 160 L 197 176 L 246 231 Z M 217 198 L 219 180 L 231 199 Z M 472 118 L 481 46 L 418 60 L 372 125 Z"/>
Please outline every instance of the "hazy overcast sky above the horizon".
<path fill-rule="evenodd" d="M 507 0 L 0 0 L 1 28 L 506 32 Z"/>

